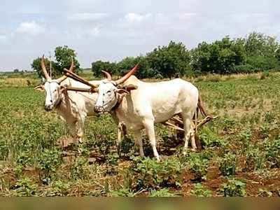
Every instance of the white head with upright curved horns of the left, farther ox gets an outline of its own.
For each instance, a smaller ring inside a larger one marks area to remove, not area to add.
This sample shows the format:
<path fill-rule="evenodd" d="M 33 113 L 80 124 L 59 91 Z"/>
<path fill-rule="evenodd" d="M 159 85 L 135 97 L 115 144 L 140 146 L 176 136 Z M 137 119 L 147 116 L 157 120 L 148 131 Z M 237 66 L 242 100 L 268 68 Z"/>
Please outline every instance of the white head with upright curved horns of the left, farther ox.
<path fill-rule="evenodd" d="M 73 57 L 71 59 L 71 66 L 69 71 L 73 72 Z M 67 78 L 67 76 L 62 76 L 58 79 L 50 78 L 50 76 L 48 75 L 48 71 L 45 68 L 44 56 L 41 59 L 41 69 L 43 71 L 43 75 L 45 76 L 46 81 L 44 85 L 38 85 L 35 87 L 35 89 L 45 91 L 45 111 L 52 111 L 59 104 L 59 102 L 61 102 L 62 92 L 65 87 L 60 85 L 60 83 L 62 83 L 62 81 L 64 81 Z"/>

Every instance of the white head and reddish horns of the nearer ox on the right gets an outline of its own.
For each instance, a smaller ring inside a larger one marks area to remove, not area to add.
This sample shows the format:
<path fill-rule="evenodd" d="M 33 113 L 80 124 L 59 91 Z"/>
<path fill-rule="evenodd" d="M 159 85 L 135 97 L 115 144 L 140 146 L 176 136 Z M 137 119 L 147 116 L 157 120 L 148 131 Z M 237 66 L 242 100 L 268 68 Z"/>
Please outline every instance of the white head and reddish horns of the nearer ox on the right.
<path fill-rule="evenodd" d="M 102 80 L 97 87 L 98 97 L 97 102 L 94 106 L 94 111 L 97 113 L 103 113 L 106 111 L 111 111 L 118 102 L 120 102 L 125 94 L 129 93 L 130 90 L 137 89 L 134 85 L 129 85 L 125 89 L 120 88 L 122 85 L 134 72 L 137 70 L 138 64 L 134 66 L 125 76 L 113 81 L 110 73 L 103 71 L 106 76 L 105 80 Z"/>

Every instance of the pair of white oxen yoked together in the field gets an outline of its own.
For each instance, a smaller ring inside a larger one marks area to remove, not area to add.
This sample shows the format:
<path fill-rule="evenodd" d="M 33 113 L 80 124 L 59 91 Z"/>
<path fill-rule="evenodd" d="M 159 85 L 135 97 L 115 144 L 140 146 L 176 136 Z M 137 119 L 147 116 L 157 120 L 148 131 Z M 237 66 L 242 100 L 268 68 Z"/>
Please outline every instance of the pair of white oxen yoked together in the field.
<path fill-rule="evenodd" d="M 73 72 L 73 68 L 72 59 L 69 71 Z M 90 93 L 67 91 L 66 87 L 69 86 L 88 88 L 79 81 L 67 78 L 67 75 L 56 80 L 50 78 L 43 57 L 41 69 L 46 82 L 35 89 L 45 92 L 45 110 L 56 110 L 69 125 L 74 143 L 82 141 L 86 116 L 109 112 L 117 125 L 124 124 L 127 130 L 134 134 L 142 157 L 144 150 L 141 130 L 145 129 L 153 148 L 153 155 L 159 160 L 154 124 L 166 122 L 180 114 L 184 125 L 185 148 L 188 148 L 189 139 L 193 150 L 197 148 L 193 118 L 197 117 L 199 109 L 204 114 L 205 111 L 197 87 L 186 80 L 176 78 L 146 83 L 133 76 L 137 70 L 137 66 L 134 66 L 118 80 L 112 80 L 111 75 L 104 71 L 106 79 L 89 81 L 92 87 L 95 87 L 94 93 Z M 120 130 L 118 130 L 118 146 L 119 141 Z"/>

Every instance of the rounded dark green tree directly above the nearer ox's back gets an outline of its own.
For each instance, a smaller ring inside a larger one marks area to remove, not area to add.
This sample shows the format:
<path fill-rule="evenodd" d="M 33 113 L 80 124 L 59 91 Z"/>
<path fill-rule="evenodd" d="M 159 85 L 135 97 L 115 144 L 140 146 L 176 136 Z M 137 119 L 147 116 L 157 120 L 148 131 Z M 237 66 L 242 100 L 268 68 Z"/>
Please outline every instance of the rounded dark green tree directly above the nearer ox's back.
<path fill-rule="evenodd" d="M 164 77 L 183 75 L 190 70 L 190 53 L 183 43 L 170 41 L 167 46 L 158 46 L 147 54 L 147 59 L 151 68 Z"/>

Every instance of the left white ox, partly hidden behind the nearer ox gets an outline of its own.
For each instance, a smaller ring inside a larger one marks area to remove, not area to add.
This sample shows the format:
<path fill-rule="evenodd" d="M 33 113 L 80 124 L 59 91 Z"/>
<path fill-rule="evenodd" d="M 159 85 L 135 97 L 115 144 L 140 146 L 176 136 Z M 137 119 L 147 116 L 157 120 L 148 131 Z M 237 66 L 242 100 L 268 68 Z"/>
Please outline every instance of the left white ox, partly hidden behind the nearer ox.
<path fill-rule="evenodd" d="M 73 59 L 69 71 L 73 71 Z M 97 94 L 90 92 L 73 92 L 66 91 L 65 85 L 73 87 L 88 88 L 87 85 L 77 82 L 66 76 L 58 79 L 52 79 L 48 75 L 45 68 L 44 57 L 41 59 L 41 69 L 45 76 L 44 85 L 38 85 L 36 90 L 45 92 L 45 110 L 57 111 L 62 120 L 69 126 L 69 131 L 74 139 L 74 143 L 82 142 L 84 134 L 84 122 L 86 116 L 97 116 L 94 112 L 94 105 L 97 100 Z M 98 83 L 99 81 L 90 81 L 90 83 Z"/>

